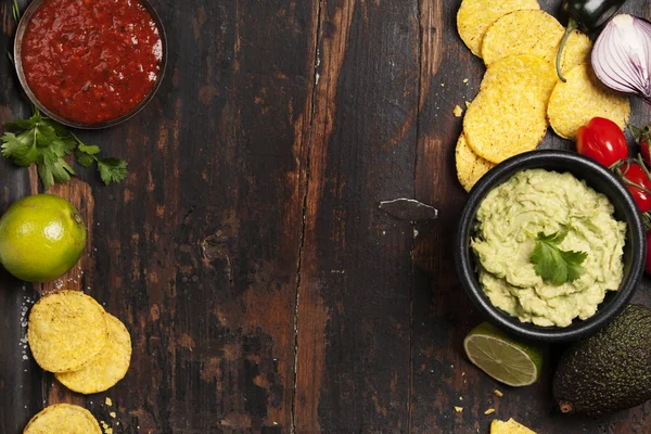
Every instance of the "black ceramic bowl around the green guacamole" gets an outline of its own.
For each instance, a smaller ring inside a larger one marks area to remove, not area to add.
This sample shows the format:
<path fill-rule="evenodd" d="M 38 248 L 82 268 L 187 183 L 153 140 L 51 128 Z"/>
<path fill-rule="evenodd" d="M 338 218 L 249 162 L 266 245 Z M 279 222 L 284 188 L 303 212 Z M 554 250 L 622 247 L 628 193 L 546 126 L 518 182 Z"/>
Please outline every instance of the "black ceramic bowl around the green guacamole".
<path fill-rule="evenodd" d="M 508 180 L 518 171 L 542 168 L 559 173 L 569 171 L 598 192 L 608 196 L 615 207 L 615 218 L 626 221 L 627 233 L 624 245 L 624 279 L 616 292 L 609 292 L 599 305 L 597 314 L 586 320 L 575 319 L 569 327 L 539 327 L 521 322 L 506 311 L 493 306 L 484 294 L 475 271 L 475 257 L 470 248 L 480 204 L 486 194 Z M 477 309 L 490 322 L 520 337 L 532 341 L 576 341 L 596 333 L 609 323 L 630 299 L 642 273 L 646 258 L 646 232 L 642 220 L 630 193 L 616 176 L 608 169 L 579 154 L 567 151 L 534 151 L 516 155 L 489 170 L 472 189 L 461 215 L 455 241 L 457 271 L 463 289 Z"/>

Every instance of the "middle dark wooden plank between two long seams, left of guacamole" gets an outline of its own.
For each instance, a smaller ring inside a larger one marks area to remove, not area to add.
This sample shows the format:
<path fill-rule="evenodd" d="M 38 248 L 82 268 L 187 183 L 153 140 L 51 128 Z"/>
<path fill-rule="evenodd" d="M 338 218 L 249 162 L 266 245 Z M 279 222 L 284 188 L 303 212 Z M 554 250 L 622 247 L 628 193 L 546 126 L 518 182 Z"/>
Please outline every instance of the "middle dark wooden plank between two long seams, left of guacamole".
<path fill-rule="evenodd" d="M 407 431 L 412 231 L 378 205 L 413 194 L 417 16 L 413 2 L 322 4 L 297 433 Z"/>

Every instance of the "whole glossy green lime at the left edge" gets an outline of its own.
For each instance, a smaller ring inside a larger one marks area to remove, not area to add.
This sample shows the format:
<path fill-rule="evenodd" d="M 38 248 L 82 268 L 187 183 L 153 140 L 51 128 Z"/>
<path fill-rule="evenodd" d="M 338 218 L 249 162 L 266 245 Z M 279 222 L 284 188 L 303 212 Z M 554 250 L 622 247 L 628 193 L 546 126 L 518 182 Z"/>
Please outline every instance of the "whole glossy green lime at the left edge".
<path fill-rule="evenodd" d="M 47 282 L 65 275 L 84 247 L 84 219 L 65 199 L 35 194 L 0 218 L 0 263 L 21 280 Z"/>

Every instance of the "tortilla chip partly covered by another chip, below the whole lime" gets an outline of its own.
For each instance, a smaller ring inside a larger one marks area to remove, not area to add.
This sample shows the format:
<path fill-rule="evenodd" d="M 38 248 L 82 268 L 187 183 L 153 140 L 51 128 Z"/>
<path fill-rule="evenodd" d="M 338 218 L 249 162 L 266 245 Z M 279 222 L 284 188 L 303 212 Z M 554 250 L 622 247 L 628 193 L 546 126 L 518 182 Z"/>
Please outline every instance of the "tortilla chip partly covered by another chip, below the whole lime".
<path fill-rule="evenodd" d="M 55 374 L 67 388 L 93 394 L 107 391 L 125 378 L 131 360 L 131 336 L 125 324 L 106 314 L 108 342 L 102 352 L 78 371 Z"/>

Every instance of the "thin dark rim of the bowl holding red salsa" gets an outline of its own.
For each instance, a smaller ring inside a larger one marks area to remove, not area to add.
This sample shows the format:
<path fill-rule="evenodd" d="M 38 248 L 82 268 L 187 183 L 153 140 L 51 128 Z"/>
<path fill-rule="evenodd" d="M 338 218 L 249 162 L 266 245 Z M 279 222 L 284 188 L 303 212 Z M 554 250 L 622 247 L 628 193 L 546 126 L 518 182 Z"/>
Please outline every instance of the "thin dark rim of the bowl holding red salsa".
<path fill-rule="evenodd" d="M 167 69 L 167 34 L 165 33 L 165 27 L 163 26 L 163 21 L 161 20 L 161 16 L 156 12 L 156 10 L 154 9 L 154 7 L 150 2 L 150 0 L 138 0 L 138 1 L 140 1 L 142 3 L 142 5 L 144 5 L 146 8 L 148 12 L 152 15 L 152 18 L 154 20 L 154 23 L 156 24 L 156 27 L 158 29 L 158 36 L 161 37 L 163 55 L 161 58 L 161 72 L 158 74 L 158 79 L 156 80 L 156 84 L 154 85 L 154 87 L 146 94 L 146 97 L 144 97 L 144 99 L 142 101 L 140 101 L 140 103 L 136 107 L 133 107 L 130 112 L 128 112 L 122 116 L 118 116 L 116 118 L 108 119 L 108 120 L 105 120 L 102 123 L 97 123 L 97 124 L 78 123 L 75 120 L 66 119 L 65 117 L 58 115 L 56 113 L 53 113 L 36 97 L 36 94 L 31 91 L 29 84 L 27 82 L 27 77 L 25 76 L 25 72 L 23 69 L 23 59 L 22 59 L 23 37 L 25 36 L 25 30 L 27 29 L 27 25 L 29 24 L 31 16 L 41 7 L 41 4 L 44 1 L 47 1 L 47 0 L 34 0 L 31 3 L 29 3 L 29 5 L 25 10 L 25 12 L 23 13 L 23 16 L 21 17 L 18 26 L 16 27 L 16 35 L 14 38 L 14 47 L 13 47 L 14 65 L 15 65 L 16 74 L 18 76 L 18 81 L 21 82 L 23 90 L 27 94 L 27 98 L 29 98 L 29 101 L 31 101 L 31 103 L 35 106 L 37 106 L 38 110 L 41 111 L 43 114 L 46 114 L 46 116 L 48 116 L 49 118 L 56 120 L 59 124 L 62 124 L 62 125 L 65 125 L 67 127 L 72 127 L 72 128 L 77 128 L 77 129 L 93 130 L 93 129 L 102 129 L 102 128 L 113 127 L 115 125 L 122 124 L 122 123 L 130 119 L 131 117 L 133 117 L 138 113 L 140 113 L 140 111 L 142 111 L 142 108 L 144 108 L 144 106 L 154 98 L 154 95 L 161 88 L 161 85 L 163 84 L 163 79 L 165 78 L 165 71 Z"/>

